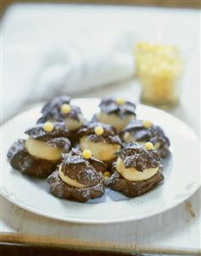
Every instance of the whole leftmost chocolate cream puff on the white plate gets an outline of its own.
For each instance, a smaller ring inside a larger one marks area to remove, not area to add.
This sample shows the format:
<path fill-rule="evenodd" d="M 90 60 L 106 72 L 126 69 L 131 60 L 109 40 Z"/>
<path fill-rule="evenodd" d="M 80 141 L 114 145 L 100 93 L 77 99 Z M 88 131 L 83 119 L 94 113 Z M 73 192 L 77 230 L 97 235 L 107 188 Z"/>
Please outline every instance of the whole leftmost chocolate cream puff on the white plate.
<path fill-rule="evenodd" d="M 11 166 L 28 176 L 49 176 L 60 163 L 61 153 L 68 152 L 71 146 L 67 138 L 68 128 L 58 122 L 41 123 L 28 128 L 25 133 L 29 135 L 27 140 L 17 140 L 9 148 L 7 156 Z"/>

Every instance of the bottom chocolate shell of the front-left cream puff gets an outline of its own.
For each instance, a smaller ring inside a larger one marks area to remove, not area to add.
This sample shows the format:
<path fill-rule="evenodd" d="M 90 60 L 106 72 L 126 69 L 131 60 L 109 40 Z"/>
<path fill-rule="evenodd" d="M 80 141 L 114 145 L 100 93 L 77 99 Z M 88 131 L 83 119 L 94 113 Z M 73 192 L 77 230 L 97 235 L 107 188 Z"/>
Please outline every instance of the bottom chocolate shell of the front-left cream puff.
<path fill-rule="evenodd" d="M 88 199 L 101 197 L 104 193 L 103 179 L 91 187 L 74 188 L 62 181 L 57 170 L 48 177 L 47 182 L 50 184 L 50 193 L 60 199 L 70 199 L 85 203 Z"/>

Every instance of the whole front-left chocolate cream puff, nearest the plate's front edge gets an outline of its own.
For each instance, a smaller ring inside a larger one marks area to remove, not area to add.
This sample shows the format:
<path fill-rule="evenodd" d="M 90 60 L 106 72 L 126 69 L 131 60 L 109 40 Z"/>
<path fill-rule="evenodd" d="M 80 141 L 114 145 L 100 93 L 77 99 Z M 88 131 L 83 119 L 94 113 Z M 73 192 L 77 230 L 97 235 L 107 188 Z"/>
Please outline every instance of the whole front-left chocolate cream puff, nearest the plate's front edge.
<path fill-rule="evenodd" d="M 103 170 L 103 162 L 72 149 L 62 154 L 62 164 L 48 177 L 50 193 L 82 203 L 101 197 L 104 193 Z"/>

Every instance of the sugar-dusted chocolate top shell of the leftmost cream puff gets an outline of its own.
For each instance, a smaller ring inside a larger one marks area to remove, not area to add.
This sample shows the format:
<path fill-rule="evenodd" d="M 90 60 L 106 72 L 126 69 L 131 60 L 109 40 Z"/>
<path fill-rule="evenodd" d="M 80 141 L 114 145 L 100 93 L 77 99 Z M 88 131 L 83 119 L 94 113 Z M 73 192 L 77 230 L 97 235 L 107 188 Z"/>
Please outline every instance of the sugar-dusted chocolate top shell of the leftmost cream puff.
<path fill-rule="evenodd" d="M 63 122 L 54 122 L 54 128 L 51 132 L 44 131 L 44 123 L 38 123 L 33 128 L 28 128 L 25 134 L 35 140 L 46 142 L 49 146 L 69 149 L 71 143 L 68 140 L 68 128 Z"/>

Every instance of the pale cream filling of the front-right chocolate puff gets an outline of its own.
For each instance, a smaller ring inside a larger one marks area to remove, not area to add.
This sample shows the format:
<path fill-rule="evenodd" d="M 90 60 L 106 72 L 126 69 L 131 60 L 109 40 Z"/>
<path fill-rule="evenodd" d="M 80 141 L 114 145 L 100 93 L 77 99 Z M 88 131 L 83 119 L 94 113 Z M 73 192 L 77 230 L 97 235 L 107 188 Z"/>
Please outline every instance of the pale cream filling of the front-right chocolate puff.
<path fill-rule="evenodd" d="M 116 161 L 116 170 L 123 176 L 127 181 L 130 182 L 140 182 L 150 179 L 155 176 L 158 171 L 157 168 L 145 169 L 143 171 L 138 171 L 135 168 L 125 168 L 123 160 L 118 158 Z"/>

